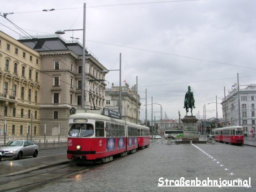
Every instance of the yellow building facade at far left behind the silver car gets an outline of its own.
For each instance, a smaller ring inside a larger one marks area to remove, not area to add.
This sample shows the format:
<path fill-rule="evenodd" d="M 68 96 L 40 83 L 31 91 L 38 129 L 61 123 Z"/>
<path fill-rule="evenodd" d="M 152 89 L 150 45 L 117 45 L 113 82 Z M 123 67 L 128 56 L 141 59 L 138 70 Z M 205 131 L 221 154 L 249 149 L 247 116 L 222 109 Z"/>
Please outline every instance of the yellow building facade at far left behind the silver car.
<path fill-rule="evenodd" d="M 38 52 L 0 31 L 0 135 L 39 134 L 40 66 Z"/>

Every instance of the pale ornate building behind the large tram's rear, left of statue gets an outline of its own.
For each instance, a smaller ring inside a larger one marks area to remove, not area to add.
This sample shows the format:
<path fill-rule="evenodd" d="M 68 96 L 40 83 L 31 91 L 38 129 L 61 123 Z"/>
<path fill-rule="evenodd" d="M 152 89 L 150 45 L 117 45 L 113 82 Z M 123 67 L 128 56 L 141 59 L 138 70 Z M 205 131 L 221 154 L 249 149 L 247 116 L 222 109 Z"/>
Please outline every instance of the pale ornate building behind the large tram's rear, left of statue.
<path fill-rule="evenodd" d="M 139 94 L 137 94 L 136 102 L 136 85 L 129 88 L 129 85 L 125 83 L 125 86 L 121 86 L 121 119 L 133 123 L 136 123 L 137 119 L 137 123 L 140 124 L 140 105 Z M 112 87 L 105 91 L 105 107 L 114 111 L 119 109 L 119 86 L 114 86 L 113 83 Z M 136 111 L 138 111 L 137 115 Z"/>

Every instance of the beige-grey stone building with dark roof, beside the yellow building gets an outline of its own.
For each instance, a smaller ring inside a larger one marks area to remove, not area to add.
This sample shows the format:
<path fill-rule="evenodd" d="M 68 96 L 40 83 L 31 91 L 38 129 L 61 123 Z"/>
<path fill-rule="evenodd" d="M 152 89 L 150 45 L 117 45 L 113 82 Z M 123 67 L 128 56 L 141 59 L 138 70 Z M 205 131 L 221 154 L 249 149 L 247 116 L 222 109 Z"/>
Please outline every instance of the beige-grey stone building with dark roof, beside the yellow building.
<path fill-rule="evenodd" d="M 65 41 L 58 35 L 19 39 L 39 52 L 40 69 L 40 131 L 46 135 L 66 135 L 69 108 L 81 108 L 82 45 Z M 38 53 L 37 53 L 38 54 Z M 38 56 L 39 56 L 38 55 Z M 85 108 L 100 109 L 104 105 L 106 68 L 85 51 Z M 60 127 L 58 130 L 58 127 Z"/>

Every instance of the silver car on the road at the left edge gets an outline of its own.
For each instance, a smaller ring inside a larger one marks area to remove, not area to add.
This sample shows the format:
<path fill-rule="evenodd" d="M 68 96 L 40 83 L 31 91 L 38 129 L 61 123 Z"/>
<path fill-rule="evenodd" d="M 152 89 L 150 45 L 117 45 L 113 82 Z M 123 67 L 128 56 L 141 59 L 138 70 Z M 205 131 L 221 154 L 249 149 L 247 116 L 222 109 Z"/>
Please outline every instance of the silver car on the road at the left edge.
<path fill-rule="evenodd" d="M 23 156 L 36 157 L 38 147 L 31 140 L 10 140 L 0 147 L 2 157 L 21 159 Z"/>

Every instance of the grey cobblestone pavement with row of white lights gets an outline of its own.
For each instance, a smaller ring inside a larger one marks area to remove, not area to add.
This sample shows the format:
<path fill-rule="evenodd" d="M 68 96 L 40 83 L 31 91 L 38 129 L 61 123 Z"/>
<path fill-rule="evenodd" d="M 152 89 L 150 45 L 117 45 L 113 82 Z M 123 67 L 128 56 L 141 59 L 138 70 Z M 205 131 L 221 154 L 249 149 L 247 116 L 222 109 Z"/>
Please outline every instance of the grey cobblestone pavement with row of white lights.
<path fill-rule="evenodd" d="M 166 143 L 165 140 L 150 145 L 149 148 L 47 184 L 36 191 L 256 191 L 255 147 L 224 143 Z M 248 180 L 250 177 L 251 187 L 159 187 L 157 183 L 160 177 L 169 180 L 180 177 L 189 180 L 196 177 L 200 180 L 207 177 Z"/>

